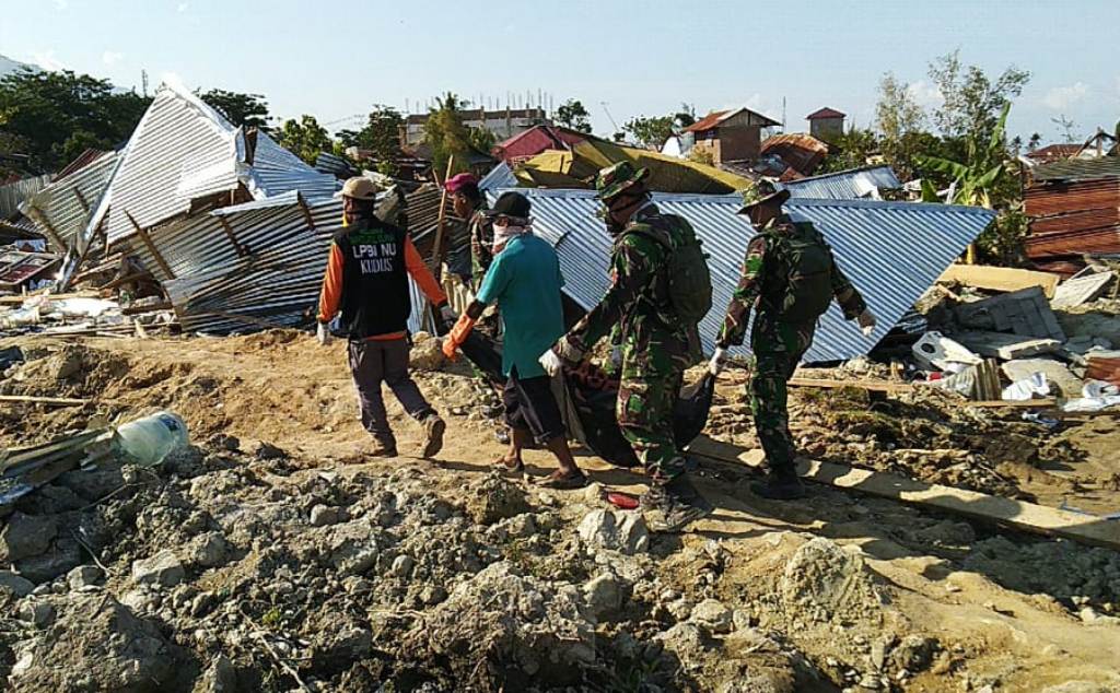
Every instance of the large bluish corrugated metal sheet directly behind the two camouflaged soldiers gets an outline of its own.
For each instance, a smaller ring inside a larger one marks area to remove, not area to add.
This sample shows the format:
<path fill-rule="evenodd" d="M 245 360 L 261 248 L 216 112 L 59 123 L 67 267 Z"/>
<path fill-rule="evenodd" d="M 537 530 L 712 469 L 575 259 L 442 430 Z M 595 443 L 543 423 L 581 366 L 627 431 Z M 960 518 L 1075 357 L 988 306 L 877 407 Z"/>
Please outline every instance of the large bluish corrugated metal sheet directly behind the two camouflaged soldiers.
<path fill-rule="evenodd" d="M 564 292 L 591 308 L 609 285 L 612 242 L 596 217 L 595 194 L 519 191 L 532 202 L 534 232 L 557 247 Z M 700 329 L 710 352 L 754 232 L 735 214 L 741 205 L 737 195 L 654 195 L 654 199 L 663 210 L 687 218 L 709 253 L 713 306 Z M 786 210 L 796 219 L 813 222 L 829 238 L 841 268 L 879 318 L 872 337 L 865 338 L 833 306 L 820 320 L 805 357 L 811 362 L 866 354 L 995 218 L 991 210 L 979 207 L 870 200 L 796 199 L 786 204 Z"/>

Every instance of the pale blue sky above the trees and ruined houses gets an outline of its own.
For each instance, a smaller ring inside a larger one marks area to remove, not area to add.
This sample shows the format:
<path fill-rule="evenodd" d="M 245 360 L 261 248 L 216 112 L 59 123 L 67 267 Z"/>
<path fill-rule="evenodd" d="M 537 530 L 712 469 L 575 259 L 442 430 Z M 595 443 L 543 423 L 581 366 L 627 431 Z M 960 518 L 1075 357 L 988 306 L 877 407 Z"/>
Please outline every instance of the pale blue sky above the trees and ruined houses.
<path fill-rule="evenodd" d="M 373 103 L 413 107 L 447 90 L 505 103 L 538 90 L 582 100 L 597 132 L 604 102 L 620 124 L 692 103 L 702 114 L 748 105 L 805 129 L 820 106 L 871 122 L 892 71 L 920 101 L 937 95 L 928 62 L 960 48 L 995 74 L 1033 78 L 1012 133 L 1060 138 L 1065 114 L 1088 135 L 1120 119 L 1116 0 L 1008 2 L 92 2 L 0 0 L 0 54 L 139 85 L 264 94 L 273 114 L 320 122 Z M 850 122 L 850 121 L 849 121 Z M 340 122 L 335 127 L 346 125 Z"/>

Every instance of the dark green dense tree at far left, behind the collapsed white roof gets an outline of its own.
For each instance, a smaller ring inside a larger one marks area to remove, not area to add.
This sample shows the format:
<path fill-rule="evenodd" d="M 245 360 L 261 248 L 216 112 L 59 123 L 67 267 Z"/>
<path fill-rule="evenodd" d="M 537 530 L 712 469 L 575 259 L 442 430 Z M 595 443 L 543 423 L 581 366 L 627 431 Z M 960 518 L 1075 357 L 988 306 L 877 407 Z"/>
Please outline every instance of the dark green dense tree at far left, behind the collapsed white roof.
<path fill-rule="evenodd" d="M 90 75 L 19 71 L 0 79 L 0 142 L 28 154 L 31 170 L 55 170 L 87 147 L 128 139 L 150 103 Z"/>

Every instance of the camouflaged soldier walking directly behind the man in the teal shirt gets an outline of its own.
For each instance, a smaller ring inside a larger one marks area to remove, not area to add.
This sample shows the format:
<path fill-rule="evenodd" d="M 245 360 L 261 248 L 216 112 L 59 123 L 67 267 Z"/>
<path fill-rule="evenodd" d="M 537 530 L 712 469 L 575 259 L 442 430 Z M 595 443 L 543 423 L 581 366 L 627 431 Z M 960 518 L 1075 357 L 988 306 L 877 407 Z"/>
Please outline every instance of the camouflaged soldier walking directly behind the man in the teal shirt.
<path fill-rule="evenodd" d="M 651 526 L 673 531 L 711 512 L 684 471 L 673 440 L 672 411 L 684 369 L 701 358 L 696 326 L 684 325 L 669 300 L 669 249 L 681 243 L 683 218 L 662 214 L 643 179 L 648 169 L 623 161 L 596 180 L 607 231 L 614 238 L 612 283 L 598 306 L 541 356 L 550 374 L 581 362 L 595 344 L 619 328 L 618 425 L 652 484 L 642 497 Z M 659 517 L 660 515 L 660 517 Z"/>

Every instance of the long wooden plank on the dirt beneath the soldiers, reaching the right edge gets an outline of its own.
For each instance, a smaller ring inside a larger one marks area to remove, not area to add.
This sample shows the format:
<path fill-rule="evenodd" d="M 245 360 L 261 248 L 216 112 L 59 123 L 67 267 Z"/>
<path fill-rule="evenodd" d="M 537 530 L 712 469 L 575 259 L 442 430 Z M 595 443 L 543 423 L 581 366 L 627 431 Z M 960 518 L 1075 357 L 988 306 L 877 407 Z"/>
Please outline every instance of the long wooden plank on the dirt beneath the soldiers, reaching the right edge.
<path fill-rule="evenodd" d="M 689 451 L 725 462 L 747 463 L 752 467 L 762 463 L 756 450 L 746 450 L 704 438 L 689 446 Z M 816 484 L 993 522 L 1034 534 L 1058 536 L 1091 546 L 1120 549 L 1120 522 L 1094 515 L 1083 515 L 831 462 L 803 460 L 797 466 L 797 472 L 805 480 Z"/>

